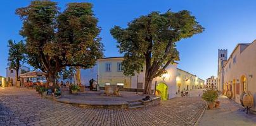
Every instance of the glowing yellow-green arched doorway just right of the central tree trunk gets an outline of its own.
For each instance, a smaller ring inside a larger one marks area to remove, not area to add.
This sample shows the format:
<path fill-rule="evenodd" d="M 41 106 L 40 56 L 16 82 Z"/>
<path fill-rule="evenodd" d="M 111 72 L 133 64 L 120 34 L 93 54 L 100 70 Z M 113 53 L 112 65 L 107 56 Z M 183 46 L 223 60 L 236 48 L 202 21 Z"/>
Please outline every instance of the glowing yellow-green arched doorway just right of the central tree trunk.
<path fill-rule="evenodd" d="M 157 84 L 156 95 L 161 96 L 162 100 L 168 99 L 168 86 L 165 83 Z"/>

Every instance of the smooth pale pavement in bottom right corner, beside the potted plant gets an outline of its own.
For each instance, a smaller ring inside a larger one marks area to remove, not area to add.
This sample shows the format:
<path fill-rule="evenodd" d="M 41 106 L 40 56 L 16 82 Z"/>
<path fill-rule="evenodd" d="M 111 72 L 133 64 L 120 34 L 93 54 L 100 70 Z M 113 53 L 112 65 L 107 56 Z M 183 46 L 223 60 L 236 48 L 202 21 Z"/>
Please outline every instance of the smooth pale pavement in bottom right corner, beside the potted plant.
<path fill-rule="evenodd" d="M 229 100 L 226 96 L 221 96 L 218 99 L 220 101 L 220 108 L 216 110 L 205 110 L 199 125 L 202 126 L 252 126 L 256 125 L 256 115 L 253 113 L 246 114 L 243 112 L 243 107 Z"/>

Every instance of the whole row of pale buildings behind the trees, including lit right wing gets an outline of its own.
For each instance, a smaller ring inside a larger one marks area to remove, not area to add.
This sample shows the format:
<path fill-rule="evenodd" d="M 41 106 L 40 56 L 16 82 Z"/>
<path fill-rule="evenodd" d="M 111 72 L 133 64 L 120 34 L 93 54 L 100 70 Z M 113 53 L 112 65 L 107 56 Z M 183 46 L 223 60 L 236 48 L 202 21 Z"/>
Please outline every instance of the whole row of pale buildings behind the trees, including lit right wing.
<path fill-rule="evenodd" d="M 122 71 L 124 57 L 106 57 L 99 59 L 91 69 L 80 69 L 81 83 L 89 86 L 89 80 L 98 81 L 99 86 L 116 84 L 119 88 L 136 91 L 144 89 L 144 71 L 134 76 L 125 76 Z M 205 81 L 194 74 L 177 69 L 177 63 L 170 64 L 166 69 L 167 74 L 156 77 L 152 81 L 152 90 L 166 94 L 163 99 L 174 98 L 182 90 L 203 88 Z"/>

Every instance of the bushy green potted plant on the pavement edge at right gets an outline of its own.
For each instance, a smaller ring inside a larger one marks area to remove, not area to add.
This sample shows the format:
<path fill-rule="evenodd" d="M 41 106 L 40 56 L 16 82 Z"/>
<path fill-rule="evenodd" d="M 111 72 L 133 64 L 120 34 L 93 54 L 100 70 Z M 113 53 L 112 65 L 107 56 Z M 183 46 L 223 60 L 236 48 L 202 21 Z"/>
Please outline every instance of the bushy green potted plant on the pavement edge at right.
<path fill-rule="evenodd" d="M 207 101 L 208 108 L 211 110 L 214 108 L 214 102 L 218 98 L 218 92 L 213 89 L 204 91 L 202 98 Z"/>

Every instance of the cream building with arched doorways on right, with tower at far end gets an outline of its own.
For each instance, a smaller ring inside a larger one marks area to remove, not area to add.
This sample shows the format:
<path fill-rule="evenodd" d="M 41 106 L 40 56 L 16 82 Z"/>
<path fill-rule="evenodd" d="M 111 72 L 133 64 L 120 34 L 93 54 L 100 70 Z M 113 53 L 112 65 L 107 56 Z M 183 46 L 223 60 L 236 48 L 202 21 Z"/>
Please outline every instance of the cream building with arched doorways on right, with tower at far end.
<path fill-rule="evenodd" d="M 219 51 L 220 53 L 220 51 Z M 225 56 L 227 53 L 224 53 Z M 222 61 L 222 62 L 220 62 Z M 256 110 L 256 40 L 252 43 L 238 43 L 226 60 L 219 57 L 218 89 L 222 93 L 232 91 L 232 99 L 240 103 L 240 95 L 243 91 L 253 94 Z"/>

